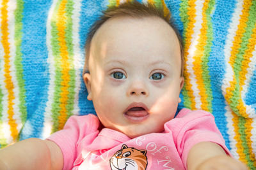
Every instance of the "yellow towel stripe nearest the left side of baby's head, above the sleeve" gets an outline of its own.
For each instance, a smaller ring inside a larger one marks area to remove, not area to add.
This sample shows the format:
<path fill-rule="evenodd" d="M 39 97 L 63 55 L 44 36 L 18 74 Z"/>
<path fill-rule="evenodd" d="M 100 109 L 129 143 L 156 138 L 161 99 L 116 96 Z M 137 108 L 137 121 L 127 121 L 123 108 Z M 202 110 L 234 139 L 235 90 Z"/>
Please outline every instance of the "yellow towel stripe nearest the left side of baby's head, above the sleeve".
<path fill-rule="evenodd" d="M 62 129 L 67 120 L 67 100 L 68 100 L 68 83 L 70 81 L 70 75 L 68 74 L 70 64 L 68 62 L 67 44 L 65 41 L 65 29 L 66 20 L 65 6 L 67 0 L 63 0 L 60 3 L 60 8 L 57 14 L 57 30 L 58 30 L 58 41 L 60 41 L 60 56 L 61 56 L 61 98 L 60 98 L 60 116 L 59 118 L 59 129 Z"/>

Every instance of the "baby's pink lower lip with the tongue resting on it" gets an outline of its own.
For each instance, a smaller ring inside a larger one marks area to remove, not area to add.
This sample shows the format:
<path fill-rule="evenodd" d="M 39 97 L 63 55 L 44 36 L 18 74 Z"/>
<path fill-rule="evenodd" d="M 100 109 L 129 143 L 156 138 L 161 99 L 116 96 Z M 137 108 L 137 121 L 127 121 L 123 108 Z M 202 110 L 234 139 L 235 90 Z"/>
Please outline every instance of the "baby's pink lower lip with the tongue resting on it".
<path fill-rule="evenodd" d="M 148 118 L 148 113 L 145 110 L 140 111 L 127 111 L 124 113 L 124 117 L 130 122 L 140 123 Z"/>

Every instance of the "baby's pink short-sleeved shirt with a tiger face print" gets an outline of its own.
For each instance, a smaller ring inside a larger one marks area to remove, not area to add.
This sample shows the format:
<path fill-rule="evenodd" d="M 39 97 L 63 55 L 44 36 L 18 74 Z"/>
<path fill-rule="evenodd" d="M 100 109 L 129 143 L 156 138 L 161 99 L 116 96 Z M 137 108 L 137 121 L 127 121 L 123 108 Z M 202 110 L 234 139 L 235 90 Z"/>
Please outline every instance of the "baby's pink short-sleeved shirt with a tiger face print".
<path fill-rule="evenodd" d="M 202 110 L 182 109 L 164 124 L 163 132 L 134 139 L 112 129 L 99 129 L 95 115 L 72 116 L 63 130 L 52 134 L 49 139 L 63 153 L 63 169 L 186 169 L 189 150 L 202 141 L 218 143 L 230 155 L 214 117 Z M 116 153 L 122 146 L 124 150 Z M 132 155 L 135 153 L 140 158 Z"/>

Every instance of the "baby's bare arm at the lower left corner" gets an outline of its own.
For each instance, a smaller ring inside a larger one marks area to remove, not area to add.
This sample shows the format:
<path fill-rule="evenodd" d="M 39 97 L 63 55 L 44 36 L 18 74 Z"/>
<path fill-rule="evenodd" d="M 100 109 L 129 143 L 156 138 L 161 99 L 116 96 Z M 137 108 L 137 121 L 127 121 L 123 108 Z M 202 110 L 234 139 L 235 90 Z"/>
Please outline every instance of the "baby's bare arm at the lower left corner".
<path fill-rule="evenodd" d="M 62 169 L 63 155 L 56 143 L 26 139 L 0 150 L 1 169 Z"/>

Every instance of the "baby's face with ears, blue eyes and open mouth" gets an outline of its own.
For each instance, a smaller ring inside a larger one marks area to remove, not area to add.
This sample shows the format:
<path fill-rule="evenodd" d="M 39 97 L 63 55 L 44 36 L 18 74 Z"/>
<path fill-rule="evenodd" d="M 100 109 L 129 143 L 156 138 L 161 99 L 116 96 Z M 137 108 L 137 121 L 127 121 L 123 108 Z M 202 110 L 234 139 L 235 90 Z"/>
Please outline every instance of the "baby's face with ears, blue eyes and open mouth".
<path fill-rule="evenodd" d="M 180 65 L 179 41 L 163 20 L 112 18 L 92 40 L 88 99 L 105 127 L 130 138 L 161 132 L 180 101 Z"/>

